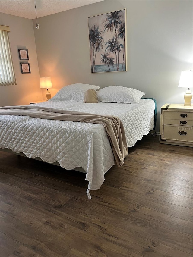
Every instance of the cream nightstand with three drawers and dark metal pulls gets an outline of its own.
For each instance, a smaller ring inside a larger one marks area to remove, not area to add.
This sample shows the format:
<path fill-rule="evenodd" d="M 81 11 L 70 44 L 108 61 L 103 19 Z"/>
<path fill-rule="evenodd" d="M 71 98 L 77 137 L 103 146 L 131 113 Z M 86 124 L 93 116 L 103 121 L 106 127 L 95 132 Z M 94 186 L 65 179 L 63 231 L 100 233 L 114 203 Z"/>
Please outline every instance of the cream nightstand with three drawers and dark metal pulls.
<path fill-rule="evenodd" d="M 160 143 L 193 146 L 193 105 L 165 104 L 161 107 Z"/>

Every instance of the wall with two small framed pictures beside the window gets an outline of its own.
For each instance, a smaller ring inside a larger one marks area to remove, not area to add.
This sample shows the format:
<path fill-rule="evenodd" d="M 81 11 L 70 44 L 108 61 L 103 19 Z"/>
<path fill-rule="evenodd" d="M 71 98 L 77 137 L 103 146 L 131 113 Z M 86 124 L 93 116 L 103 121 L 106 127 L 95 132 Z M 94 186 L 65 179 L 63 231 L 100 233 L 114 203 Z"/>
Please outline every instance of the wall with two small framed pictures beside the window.
<path fill-rule="evenodd" d="M 10 26 L 9 41 L 17 85 L 0 86 L 0 106 L 25 105 L 42 100 L 33 22 L 0 13 L 0 25 Z M 21 74 L 18 48 L 28 49 L 31 74 Z"/>

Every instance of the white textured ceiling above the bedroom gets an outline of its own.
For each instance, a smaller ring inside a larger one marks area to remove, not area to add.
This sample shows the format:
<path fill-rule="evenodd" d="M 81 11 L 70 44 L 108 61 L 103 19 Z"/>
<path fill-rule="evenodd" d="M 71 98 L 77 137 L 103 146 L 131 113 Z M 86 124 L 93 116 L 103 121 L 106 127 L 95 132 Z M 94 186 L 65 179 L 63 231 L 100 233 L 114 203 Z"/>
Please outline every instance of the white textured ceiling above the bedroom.
<path fill-rule="evenodd" d="M 0 0 L 0 12 L 35 19 L 104 0 Z"/>

